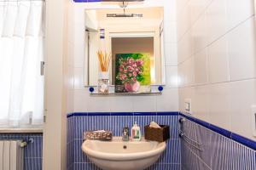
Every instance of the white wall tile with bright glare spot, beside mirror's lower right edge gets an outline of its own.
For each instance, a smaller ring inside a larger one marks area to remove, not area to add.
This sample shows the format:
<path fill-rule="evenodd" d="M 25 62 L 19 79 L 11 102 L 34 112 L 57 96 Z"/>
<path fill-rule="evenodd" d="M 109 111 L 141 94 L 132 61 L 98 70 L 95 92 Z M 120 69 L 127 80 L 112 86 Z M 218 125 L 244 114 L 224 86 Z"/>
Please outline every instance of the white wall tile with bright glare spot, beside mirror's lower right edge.
<path fill-rule="evenodd" d="M 177 88 L 177 66 L 166 66 L 166 87 Z"/>

